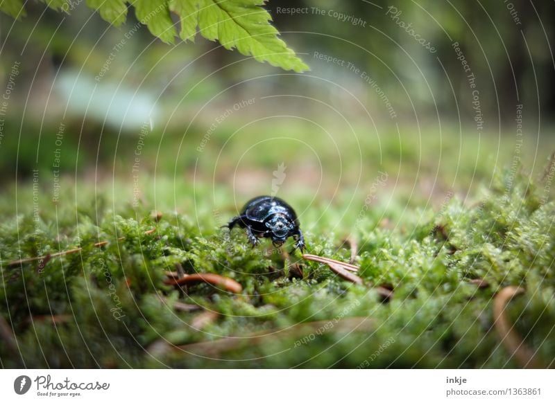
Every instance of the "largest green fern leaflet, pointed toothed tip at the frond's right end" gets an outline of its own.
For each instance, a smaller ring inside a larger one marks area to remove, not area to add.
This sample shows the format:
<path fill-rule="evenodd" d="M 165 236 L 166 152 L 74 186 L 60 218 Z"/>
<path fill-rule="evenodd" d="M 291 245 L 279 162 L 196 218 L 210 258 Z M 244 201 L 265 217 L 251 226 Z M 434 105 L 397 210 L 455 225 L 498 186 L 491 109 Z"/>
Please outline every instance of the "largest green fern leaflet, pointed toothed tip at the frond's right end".
<path fill-rule="evenodd" d="M 237 48 L 259 62 L 268 62 L 285 70 L 305 71 L 302 62 L 271 24 L 264 8 L 265 0 L 200 0 L 198 24 L 203 37 L 218 39 L 226 49 Z"/>

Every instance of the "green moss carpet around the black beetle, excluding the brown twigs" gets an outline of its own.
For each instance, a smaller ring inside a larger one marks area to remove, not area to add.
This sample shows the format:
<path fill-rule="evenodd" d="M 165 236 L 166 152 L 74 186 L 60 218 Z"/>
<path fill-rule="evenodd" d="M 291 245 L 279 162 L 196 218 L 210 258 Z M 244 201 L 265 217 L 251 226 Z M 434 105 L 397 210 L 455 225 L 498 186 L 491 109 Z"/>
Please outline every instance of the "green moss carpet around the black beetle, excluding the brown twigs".
<path fill-rule="evenodd" d="M 516 285 L 526 292 L 509 303 L 508 317 L 540 361 L 553 366 L 555 204 L 542 202 L 544 185 L 507 170 L 470 196 L 442 195 L 436 208 L 420 206 L 401 188 L 361 215 L 357 208 L 341 209 L 352 195 L 340 194 L 332 204 L 311 202 L 303 192 L 288 197 L 295 206 L 310 206 L 302 217 L 310 253 L 347 261 L 345 235 L 358 240 L 364 285 L 302 260 L 298 251 L 286 258 L 269 243 L 251 249 L 241 231 L 219 229 L 234 215 L 234 206 L 215 213 L 210 205 L 191 202 L 213 197 L 212 188 L 200 185 L 176 192 L 172 183 L 158 179 L 157 186 L 170 190 L 161 198 L 163 206 L 171 206 L 174 193 L 183 199 L 180 211 L 167 208 L 158 222 L 148 197 L 131 208 L 115 195 L 110 200 L 102 187 L 93 195 L 91 189 L 75 192 L 67 185 L 85 202 L 78 208 L 47 204 L 38 220 L 28 206 L 16 216 L 3 198 L 0 314 L 13 328 L 18 350 L 0 343 L 1 364 L 518 367 L 499 342 L 492 312 L 499 289 Z M 18 189 L 20 195 L 31 192 L 24 185 Z M 225 189 L 217 190 L 217 197 L 233 199 Z M 352 222 L 357 222 L 353 229 L 345 228 Z M 94 246 L 103 240 L 108 244 Z M 288 242 L 285 249 L 291 247 Z M 44 267 L 8 265 L 75 248 L 79 253 L 51 258 Z M 204 283 L 182 289 L 164 285 L 165 272 L 177 268 L 233 278 L 243 292 Z M 477 287 L 471 283 L 476 279 L 488 286 Z M 384 301 L 374 285 L 393 287 L 393 297 Z M 176 310 L 176 302 L 200 310 Z M 195 328 L 198 316 L 210 311 L 218 316 Z M 44 319 L 51 315 L 63 320 L 54 325 Z M 365 317 L 366 323 L 353 324 Z M 200 344 L 170 347 L 191 343 Z"/>

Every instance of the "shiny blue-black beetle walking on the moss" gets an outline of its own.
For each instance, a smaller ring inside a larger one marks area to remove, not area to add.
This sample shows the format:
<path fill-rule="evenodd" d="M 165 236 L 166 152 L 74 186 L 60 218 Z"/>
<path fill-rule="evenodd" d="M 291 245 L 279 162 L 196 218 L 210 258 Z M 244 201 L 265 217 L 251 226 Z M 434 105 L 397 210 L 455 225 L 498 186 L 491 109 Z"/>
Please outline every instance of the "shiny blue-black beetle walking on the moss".
<path fill-rule="evenodd" d="M 272 238 L 273 245 L 280 247 L 290 236 L 296 240 L 295 247 L 305 249 L 305 238 L 299 228 L 299 221 L 293 208 L 279 197 L 259 196 L 250 199 L 241 214 L 233 217 L 228 225 L 246 229 L 248 242 L 255 247 L 258 238 Z"/>

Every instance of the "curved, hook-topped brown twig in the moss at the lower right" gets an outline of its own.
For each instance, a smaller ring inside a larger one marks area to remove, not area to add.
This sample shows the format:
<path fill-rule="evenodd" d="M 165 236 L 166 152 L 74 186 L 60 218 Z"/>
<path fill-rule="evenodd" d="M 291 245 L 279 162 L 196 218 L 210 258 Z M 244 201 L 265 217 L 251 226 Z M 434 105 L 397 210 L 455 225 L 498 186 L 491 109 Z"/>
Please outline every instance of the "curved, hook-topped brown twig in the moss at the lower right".
<path fill-rule="evenodd" d="M 506 305 L 513 297 L 523 293 L 524 289 L 510 286 L 505 287 L 495 296 L 493 301 L 494 325 L 502 343 L 522 368 L 543 368 L 540 366 L 538 359 L 534 357 L 535 353 L 524 344 L 524 341 L 514 329 L 514 325 L 506 316 Z"/>

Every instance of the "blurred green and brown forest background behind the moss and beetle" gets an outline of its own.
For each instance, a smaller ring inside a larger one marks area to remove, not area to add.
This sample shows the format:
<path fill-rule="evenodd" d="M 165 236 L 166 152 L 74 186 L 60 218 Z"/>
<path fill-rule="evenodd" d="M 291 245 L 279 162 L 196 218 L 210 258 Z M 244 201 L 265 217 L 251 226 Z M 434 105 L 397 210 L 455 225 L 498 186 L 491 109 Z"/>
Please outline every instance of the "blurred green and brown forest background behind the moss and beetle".
<path fill-rule="evenodd" d="M 281 195 L 333 200 L 348 189 L 355 210 L 377 170 L 395 178 L 392 192 L 426 200 L 487 185 L 517 154 L 541 169 L 554 150 L 553 5 L 508 4 L 270 1 L 283 39 L 311 67 L 296 74 L 200 37 L 164 44 L 132 15 L 113 28 L 84 4 L 65 15 L 30 3 L 20 21 L 0 16 L 0 88 L 19 63 L 2 186 L 37 169 L 53 192 L 60 165 L 60 183 L 115 180 L 133 202 L 137 146 L 135 190 L 148 203 L 155 177 L 176 200 L 184 186 L 213 185 L 241 204 L 271 191 L 281 163 Z"/>

